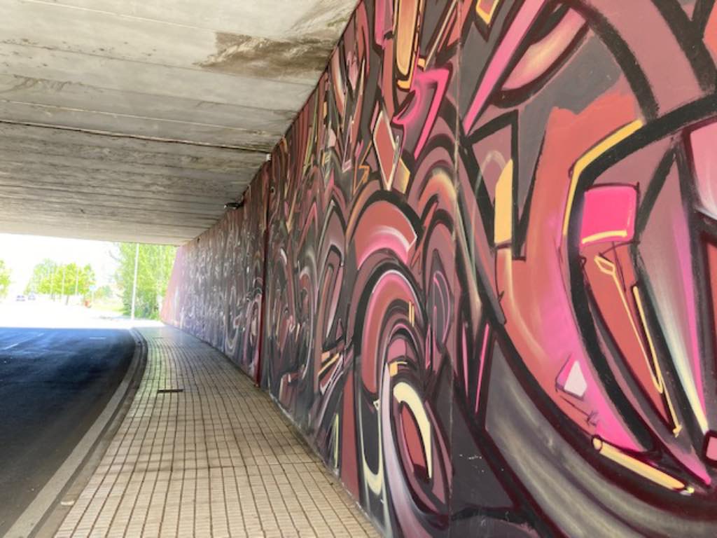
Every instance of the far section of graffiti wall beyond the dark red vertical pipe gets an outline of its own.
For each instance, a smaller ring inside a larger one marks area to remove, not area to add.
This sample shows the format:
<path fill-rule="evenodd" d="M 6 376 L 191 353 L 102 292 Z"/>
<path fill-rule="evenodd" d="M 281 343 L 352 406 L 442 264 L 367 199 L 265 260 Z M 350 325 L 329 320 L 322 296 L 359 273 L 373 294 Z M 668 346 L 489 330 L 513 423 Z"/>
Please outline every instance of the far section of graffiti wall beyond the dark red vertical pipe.
<path fill-rule="evenodd" d="M 180 247 L 162 319 L 221 350 L 255 377 L 260 353 L 267 170 L 239 209 Z"/>

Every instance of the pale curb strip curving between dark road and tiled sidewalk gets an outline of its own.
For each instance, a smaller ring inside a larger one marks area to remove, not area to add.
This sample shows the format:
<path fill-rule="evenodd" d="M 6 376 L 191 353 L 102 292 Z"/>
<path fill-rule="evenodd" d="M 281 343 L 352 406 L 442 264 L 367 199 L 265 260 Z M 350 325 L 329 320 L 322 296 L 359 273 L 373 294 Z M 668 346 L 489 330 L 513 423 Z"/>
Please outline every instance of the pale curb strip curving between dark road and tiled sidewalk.
<path fill-rule="evenodd" d="M 70 456 L 10 527 L 7 538 L 53 536 L 90 480 L 113 437 L 111 434 L 126 415 L 133 400 L 128 397 L 137 392 L 146 366 L 147 343 L 136 329 L 130 329 L 130 334 L 135 340 L 135 351 L 125 377 Z"/>

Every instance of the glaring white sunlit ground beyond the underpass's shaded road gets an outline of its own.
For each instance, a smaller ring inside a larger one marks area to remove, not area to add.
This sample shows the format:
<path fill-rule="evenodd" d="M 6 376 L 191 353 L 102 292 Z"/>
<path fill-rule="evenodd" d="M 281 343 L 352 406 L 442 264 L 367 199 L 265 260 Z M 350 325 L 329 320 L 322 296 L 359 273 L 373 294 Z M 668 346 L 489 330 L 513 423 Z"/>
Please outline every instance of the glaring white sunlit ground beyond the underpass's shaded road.
<path fill-rule="evenodd" d="M 0 327 L 46 327 L 55 329 L 131 329 L 162 326 L 159 321 L 130 320 L 115 312 L 66 306 L 61 301 L 39 298 L 36 301 L 0 302 Z"/>

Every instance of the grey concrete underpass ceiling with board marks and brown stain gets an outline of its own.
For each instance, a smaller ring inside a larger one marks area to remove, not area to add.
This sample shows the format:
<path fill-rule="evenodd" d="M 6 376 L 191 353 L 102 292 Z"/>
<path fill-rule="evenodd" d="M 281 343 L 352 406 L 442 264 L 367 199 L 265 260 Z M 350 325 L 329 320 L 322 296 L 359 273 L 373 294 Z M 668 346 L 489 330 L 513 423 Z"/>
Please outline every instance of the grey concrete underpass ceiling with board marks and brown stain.
<path fill-rule="evenodd" d="M 0 0 L 0 232 L 181 244 L 290 125 L 356 0 Z"/>

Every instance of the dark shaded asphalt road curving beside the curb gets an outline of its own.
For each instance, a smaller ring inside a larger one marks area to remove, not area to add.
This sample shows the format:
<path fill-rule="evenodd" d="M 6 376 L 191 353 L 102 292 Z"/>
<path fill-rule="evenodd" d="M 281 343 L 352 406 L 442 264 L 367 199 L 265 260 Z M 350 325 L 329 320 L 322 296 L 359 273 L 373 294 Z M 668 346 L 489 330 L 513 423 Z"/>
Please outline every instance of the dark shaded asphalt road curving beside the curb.
<path fill-rule="evenodd" d="M 124 329 L 0 328 L 0 536 L 102 412 L 133 353 Z"/>

